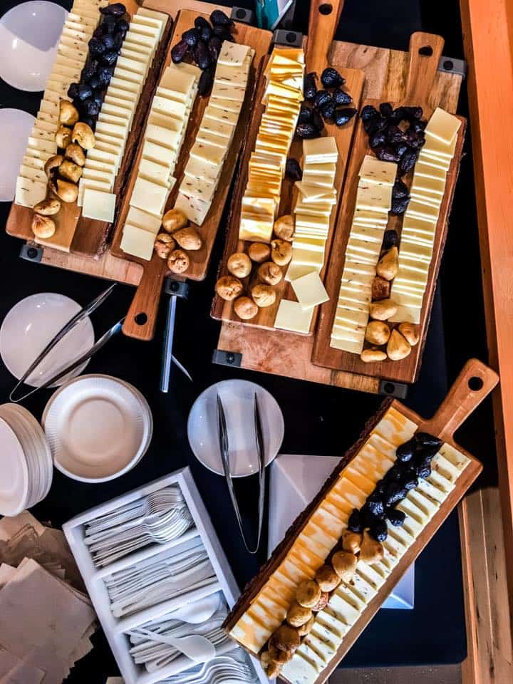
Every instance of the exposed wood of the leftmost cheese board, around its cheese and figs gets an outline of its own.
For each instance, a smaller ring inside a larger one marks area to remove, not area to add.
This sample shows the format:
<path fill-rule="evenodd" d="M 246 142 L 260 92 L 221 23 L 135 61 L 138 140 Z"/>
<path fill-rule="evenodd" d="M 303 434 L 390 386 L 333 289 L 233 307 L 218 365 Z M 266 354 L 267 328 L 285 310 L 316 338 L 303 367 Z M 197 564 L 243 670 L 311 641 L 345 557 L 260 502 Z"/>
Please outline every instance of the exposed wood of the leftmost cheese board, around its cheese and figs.
<path fill-rule="evenodd" d="M 138 10 L 138 5 L 135 2 L 130 4 L 127 3 L 127 5 L 128 13 L 130 16 L 133 16 Z M 132 130 L 128 135 L 123 161 L 118 170 L 118 175 L 115 177 L 113 192 L 117 195 L 116 217 L 123 199 L 123 187 L 126 182 L 126 177 L 133 167 L 133 157 L 138 147 L 142 121 L 145 119 L 147 107 L 155 91 L 157 76 L 160 73 L 162 60 L 167 51 L 167 43 L 169 42 L 172 32 L 172 24 L 173 21 L 170 17 L 167 21 L 165 31 L 162 33 L 162 38 L 155 53 L 152 67 L 150 68 L 150 71 L 148 71 L 145 86 L 140 95 L 138 107 L 135 110 Z M 72 204 L 66 202 L 62 203 L 61 211 L 54 217 L 56 232 L 51 238 L 39 239 L 34 236 L 31 229 L 32 217 L 32 209 L 29 207 L 21 207 L 19 204 L 13 204 L 7 219 L 6 232 L 13 237 L 20 237 L 24 240 L 36 242 L 36 244 L 39 244 L 41 247 L 51 247 L 52 249 L 77 254 L 81 257 L 99 257 L 105 252 L 111 224 L 83 217 L 81 214 L 81 207 L 78 207 L 76 202 L 73 202 Z"/>

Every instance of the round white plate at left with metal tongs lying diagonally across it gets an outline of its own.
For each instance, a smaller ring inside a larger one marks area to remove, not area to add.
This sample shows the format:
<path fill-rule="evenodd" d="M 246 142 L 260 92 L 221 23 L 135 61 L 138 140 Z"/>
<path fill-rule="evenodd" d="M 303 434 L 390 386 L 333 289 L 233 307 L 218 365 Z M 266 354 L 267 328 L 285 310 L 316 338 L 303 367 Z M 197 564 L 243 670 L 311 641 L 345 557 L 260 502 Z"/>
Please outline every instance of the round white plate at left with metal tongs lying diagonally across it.
<path fill-rule="evenodd" d="M 18 302 L 4 318 L 0 328 L 0 356 L 7 369 L 19 380 L 32 361 L 81 306 L 62 294 L 41 292 Z M 86 316 L 73 328 L 31 373 L 26 384 L 40 387 L 61 368 L 82 356 L 94 344 L 93 324 Z M 88 361 L 58 380 L 63 385 L 80 375 Z"/>

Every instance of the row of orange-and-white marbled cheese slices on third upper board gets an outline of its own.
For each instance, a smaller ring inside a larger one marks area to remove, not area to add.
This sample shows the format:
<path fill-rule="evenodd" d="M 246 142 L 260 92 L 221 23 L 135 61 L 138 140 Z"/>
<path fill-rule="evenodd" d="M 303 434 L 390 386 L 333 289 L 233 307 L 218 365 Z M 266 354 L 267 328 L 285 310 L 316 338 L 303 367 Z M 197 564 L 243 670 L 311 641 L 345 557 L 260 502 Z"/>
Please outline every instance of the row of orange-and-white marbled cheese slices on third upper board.
<path fill-rule="evenodd" d="M 249 160 L 239 228 L 240 239 L 254 242 L 271 242 L 286 158 L 303 100 L 304 51 L 274 48 L 265 75 L 265 111 Z"/>

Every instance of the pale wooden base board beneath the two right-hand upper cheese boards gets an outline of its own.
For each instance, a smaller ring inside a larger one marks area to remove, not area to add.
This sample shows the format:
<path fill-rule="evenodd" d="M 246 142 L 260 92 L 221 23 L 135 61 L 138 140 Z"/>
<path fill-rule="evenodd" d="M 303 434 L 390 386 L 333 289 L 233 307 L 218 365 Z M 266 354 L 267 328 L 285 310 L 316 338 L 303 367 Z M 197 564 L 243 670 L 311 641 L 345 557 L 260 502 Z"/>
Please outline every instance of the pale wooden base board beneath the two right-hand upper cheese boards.
<path fill-rule="evenodd" d="M 395 102 L 405 98 L 409 52 L 334 41 L 330 63 L 336 68 L 351 67 L 364 71 L 366 82 L 363 100 Z M 455 113 L 461 84 L 460 73 L 437 71 L 429 93 L 428 107 L 434 109 L 440 106 Z M 444 230 L 447 231 L 447 225 Z M 380 378 L 377 374 L 371 376 L 360 371 L 336 371 L 327 366 L 316 366 L 310 361 L 314 344 L 311 337 L 286 337 L 288 343 L 284 341 L 281 331 L 253 329 L 234 322 L 223 323 L 217 348 L 242 354 L 242 368 L 252 371 L 378 393 Z"/>

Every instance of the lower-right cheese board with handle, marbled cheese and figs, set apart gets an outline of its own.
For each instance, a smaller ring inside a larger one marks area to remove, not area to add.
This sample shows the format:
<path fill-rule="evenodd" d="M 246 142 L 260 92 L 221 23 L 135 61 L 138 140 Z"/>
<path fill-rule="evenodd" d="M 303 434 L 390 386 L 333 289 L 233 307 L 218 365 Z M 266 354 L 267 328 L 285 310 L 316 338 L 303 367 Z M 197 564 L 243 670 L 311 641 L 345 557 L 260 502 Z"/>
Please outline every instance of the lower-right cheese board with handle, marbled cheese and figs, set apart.
<path fill-rule="evenodd" d="M 430 420 L 387 399 L 224 628 L 270 678 L 322 684 L 482 470 L 455 430 L 497 385 L 470 360 Z"/>

